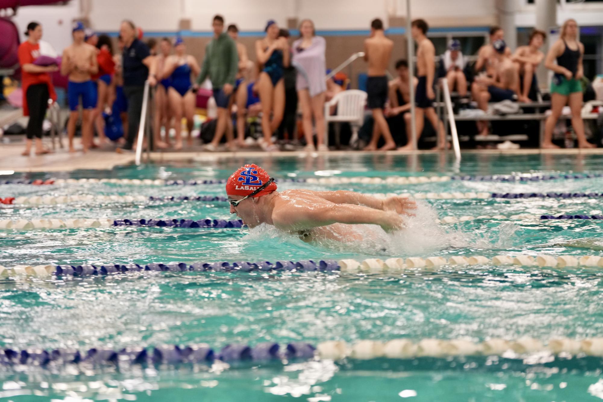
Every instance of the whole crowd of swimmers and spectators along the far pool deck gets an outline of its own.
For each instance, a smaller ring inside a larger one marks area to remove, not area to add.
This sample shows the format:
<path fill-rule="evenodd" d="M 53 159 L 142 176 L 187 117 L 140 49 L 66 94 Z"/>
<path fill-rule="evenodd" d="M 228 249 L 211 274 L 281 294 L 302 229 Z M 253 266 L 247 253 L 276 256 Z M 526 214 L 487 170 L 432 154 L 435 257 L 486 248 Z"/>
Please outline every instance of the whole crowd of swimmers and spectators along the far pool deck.
<path fill-rule="evenodd" d="M 326 80 L 326 41 L 316 35 L 314 23 L 302 20 L 300 37 L 291 41 L 287 30 L 269 20 L 265 36 L 255 42 L 255 62 L 248 56 L 249 49 L 239 42 L 236 25 L 225 29 L 224 18 L 216 15 L 212 30 L 212 40 L 199 63 L 187 53 L 181 37 L 143 42 L 142 31 L 130 20 L 122 22 L 116 43 L 109 36 L 97 35 L 81 22 L 75 22 L 73 43 L 58 59 L 45 57 L 40 49 L 42 26 L 31 22 L 26 32 L 28 40 L 19 47 L 24 115 L 30 116 L 23 154 L 30 155 L 32 149 L 36 154 L 49 152 L 42 144 L 42 122 L 47 100 L 57 99 L 51 80 L 51 74 L 57 71 L 68 77 L 70 113 L 66 130 L 70 152 L 76 151 L 74 136 L 78 130 L 83 152 L 110 141 L 118 143 L 120 152 L 133 149 L 147 81 L 154 88 L 154 113 L 152 141 L 145 142 L 145 146 L 180 150 L 193 145 L 198 92 L 207 87 L 215 102 L 216 116 L 201 128 L 206 151 L 218 150 L 224 137 L 231 151 L 253 143 L 265 151 L 280 151 L 288 149 L 287 140 L 297 142 L 302 138 L 306 151 L 327 151 L 329 132 L 324 105 L 344 92 L 346 83 L 336 83 L 333 78 Z M 417 144 L 412 139 L 420 139 L 426 125 L 437 136 L 435 149 L 446 149 L 449 143 L 444 125 L 434 108 L 436 86 L 445 82 L 456 102 L 473 101 L 484 111 L 491 102 L 533 102 L 538 94 L 535 71 L 543 62 L 554 72 L 554 78 L 551 114 L 546 120 L 541 146 L 556 147 L 552 132 L 566 105 L 572 113 L 578 145 L 595 146 L 587 141 L 581 118 L 584 46 L 578 41 L 575 20 L 564 22 L 560 38 L 552 43 L 546 55 L 540 51 L 546 40 L 543 31 L 534 30 L 525 46 L 512 51 L 505 43 L 504 31 L 492 27 L 490 41 L 479 49 L 472 65 L 456 39 L 450 41 L 438 62 L 435 47 L 427 37 L 428 30 L 425 20 L 412 21 L 417 77 L 409 75 L 407 60 L 398 60 L 397 77 L 389 79 L 394 43 L 385 35 L 380 19 L 371 22 L 370 37 L 364 42 L 366 104 L 370 110 L 359 134 L 364 149 L 414 149 Z M 415 136 L 409 135 L 411 87 L 415 93 Z M 336 111 L 336 106 L 327 110 Z M 254 120 L 258 124 L 250 130 L 250 122 Z M 184 129 L 183 121 L 186 121 Z M 487 122 L 478 121 L 476 126 L 478 135 L 489 134 Z"/>

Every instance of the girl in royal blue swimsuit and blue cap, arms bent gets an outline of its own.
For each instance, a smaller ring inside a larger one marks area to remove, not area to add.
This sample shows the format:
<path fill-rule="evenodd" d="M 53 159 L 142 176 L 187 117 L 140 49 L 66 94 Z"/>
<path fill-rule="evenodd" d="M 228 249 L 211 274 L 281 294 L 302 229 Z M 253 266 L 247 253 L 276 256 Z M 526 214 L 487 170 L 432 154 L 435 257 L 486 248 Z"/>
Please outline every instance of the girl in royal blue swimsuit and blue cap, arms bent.
<path fill-rule="evenodd" d="M 175 119 L 176 143 L 174 149 L 182 149 L 182 118 L 186 118 L 188 128 L 188 145 L 192 145 L 193 118 L 195 115 L 195 101 L 197 95 L 192 92 L 191 73 L 199 75 L 201 68 L 189 54 L 185 54 L 186 46 L 182 38 L 174 42 L 175 54 L 165 61 L 162 79 L 169 78 L 168 100 L 172 117 Z"/>

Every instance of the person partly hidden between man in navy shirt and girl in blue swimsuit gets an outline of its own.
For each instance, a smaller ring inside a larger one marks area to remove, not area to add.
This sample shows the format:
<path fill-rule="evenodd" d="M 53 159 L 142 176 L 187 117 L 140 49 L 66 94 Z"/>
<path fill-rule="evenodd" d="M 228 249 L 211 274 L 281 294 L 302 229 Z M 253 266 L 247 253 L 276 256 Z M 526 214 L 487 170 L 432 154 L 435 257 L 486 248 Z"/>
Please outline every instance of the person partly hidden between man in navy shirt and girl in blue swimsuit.
<path fill-rule="evenodd" d="M 172 52 L 172 42 L 164 37 L 159 42 L 159 54 L 155 61 L 155 71 L 157 77 L 163 76 L 163 68 L 165 68 L 165 62 Z M 168 148 L 171 146 L 169 140 L 169 128 L 171 126 L 171 118 L 169 116 L 169 105 L 168 105 L 168 88 L 169 78 L 164 78 L 159 81 L 155 89 L 155 115 L 153 116 L 153 135 L 155 138 L 155 145 L 157 148 Z M 165 140 L 161 139 L 161 128 L 165 128 Z"/>

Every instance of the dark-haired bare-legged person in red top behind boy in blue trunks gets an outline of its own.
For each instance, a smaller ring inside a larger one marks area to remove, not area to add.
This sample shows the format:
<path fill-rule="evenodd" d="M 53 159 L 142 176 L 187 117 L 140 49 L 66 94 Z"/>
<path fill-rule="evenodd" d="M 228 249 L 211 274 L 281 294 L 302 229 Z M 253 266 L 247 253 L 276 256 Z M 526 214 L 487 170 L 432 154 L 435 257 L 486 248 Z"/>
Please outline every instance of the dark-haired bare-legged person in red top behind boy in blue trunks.
<path fill-rule="evenodd" d="M 98 61 L 98 74 L 92 77 L 96 80 L 97 95 L 96 109 L 94 110 L 93 122 L 96 128 L 96 133 L 101 140 L 101 145 L 106 142 L 105 137 L 105 121 L 103 119 L 103 111 L 107 107 L 113 105 L 115 100 L 115 84 L 113 83 L 113 74 L 115 74 L 115 61 L 113 60 L 113 46 L 111 39 L 107 35 L 101 35 L 96 42 L 98 53 L 96 61 Z"/>

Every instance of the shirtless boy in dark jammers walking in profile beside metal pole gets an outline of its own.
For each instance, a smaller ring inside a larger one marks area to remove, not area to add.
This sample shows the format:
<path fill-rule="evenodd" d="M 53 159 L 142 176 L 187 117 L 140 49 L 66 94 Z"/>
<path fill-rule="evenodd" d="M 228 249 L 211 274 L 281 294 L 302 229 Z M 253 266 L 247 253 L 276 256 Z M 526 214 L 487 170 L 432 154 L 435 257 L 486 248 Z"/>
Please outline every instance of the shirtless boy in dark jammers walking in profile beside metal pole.
<path fill-rule="evenodd" d="M 446 149 L 446 133 L 444 125 L 438 118 L 434 109 L 434 77 L 435 77 L 435 47 L 431 40 L 425 36 L 429 26 L 423 19 L 415 19 L 411 24 L 412 39 L 417 42 L 417 93 L 415 93 L 415 120 L 417 122 L 417 140 L 423 131 L 425 116 L 434 130 L 438 133 L 438 145 L 434 149 Z M 408 143 L 398 149 L 401 151 L 410 151 L 415 149 L 416 144 L 412 143 L 412 131 L 408 130 Z"/>

